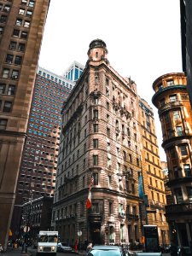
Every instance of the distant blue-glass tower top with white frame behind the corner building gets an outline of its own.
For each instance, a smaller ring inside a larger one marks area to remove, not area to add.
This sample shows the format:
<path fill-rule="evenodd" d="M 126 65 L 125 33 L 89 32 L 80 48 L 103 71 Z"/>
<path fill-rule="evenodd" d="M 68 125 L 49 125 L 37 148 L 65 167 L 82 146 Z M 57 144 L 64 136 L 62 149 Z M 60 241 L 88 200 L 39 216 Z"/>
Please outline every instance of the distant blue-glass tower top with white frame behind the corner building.
<path fill-rule="evenodd" d="M 63 76 L 73 82 L 77 81 L 80 75 L 83 73 L 84 65 L 80 64 L 78 61 L 73 61 L 73 63 L 67 67 Z"/>

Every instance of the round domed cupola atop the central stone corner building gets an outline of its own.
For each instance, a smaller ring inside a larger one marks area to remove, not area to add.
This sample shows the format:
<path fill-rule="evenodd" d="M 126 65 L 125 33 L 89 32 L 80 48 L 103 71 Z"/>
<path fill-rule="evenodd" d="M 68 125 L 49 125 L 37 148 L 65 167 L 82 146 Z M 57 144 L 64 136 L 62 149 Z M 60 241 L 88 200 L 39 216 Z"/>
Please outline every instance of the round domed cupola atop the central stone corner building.
<path fill-rule="evenodd" d="M 90 42 L 90 49 L 87 55 L 89 57 L 88 61 L 106 61 L 108 63 L 108 49 L 101 39 L 95 39 Z"/>

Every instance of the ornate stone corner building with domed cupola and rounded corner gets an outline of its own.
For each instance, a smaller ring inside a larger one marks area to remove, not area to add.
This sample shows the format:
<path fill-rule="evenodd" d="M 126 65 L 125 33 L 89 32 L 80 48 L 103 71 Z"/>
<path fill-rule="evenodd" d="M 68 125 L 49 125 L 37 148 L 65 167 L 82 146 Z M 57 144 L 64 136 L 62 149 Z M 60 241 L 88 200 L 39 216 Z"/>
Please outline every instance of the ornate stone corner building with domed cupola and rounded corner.
<path fill-rule="evenodd" d="M 77 234 L 94 243 L 141 238 L 137 87 L 109 65 L 107 54 L 102 40 L 90 43 L 84 72 L 62 110 L 52 228 L 72 244 Z"/>

